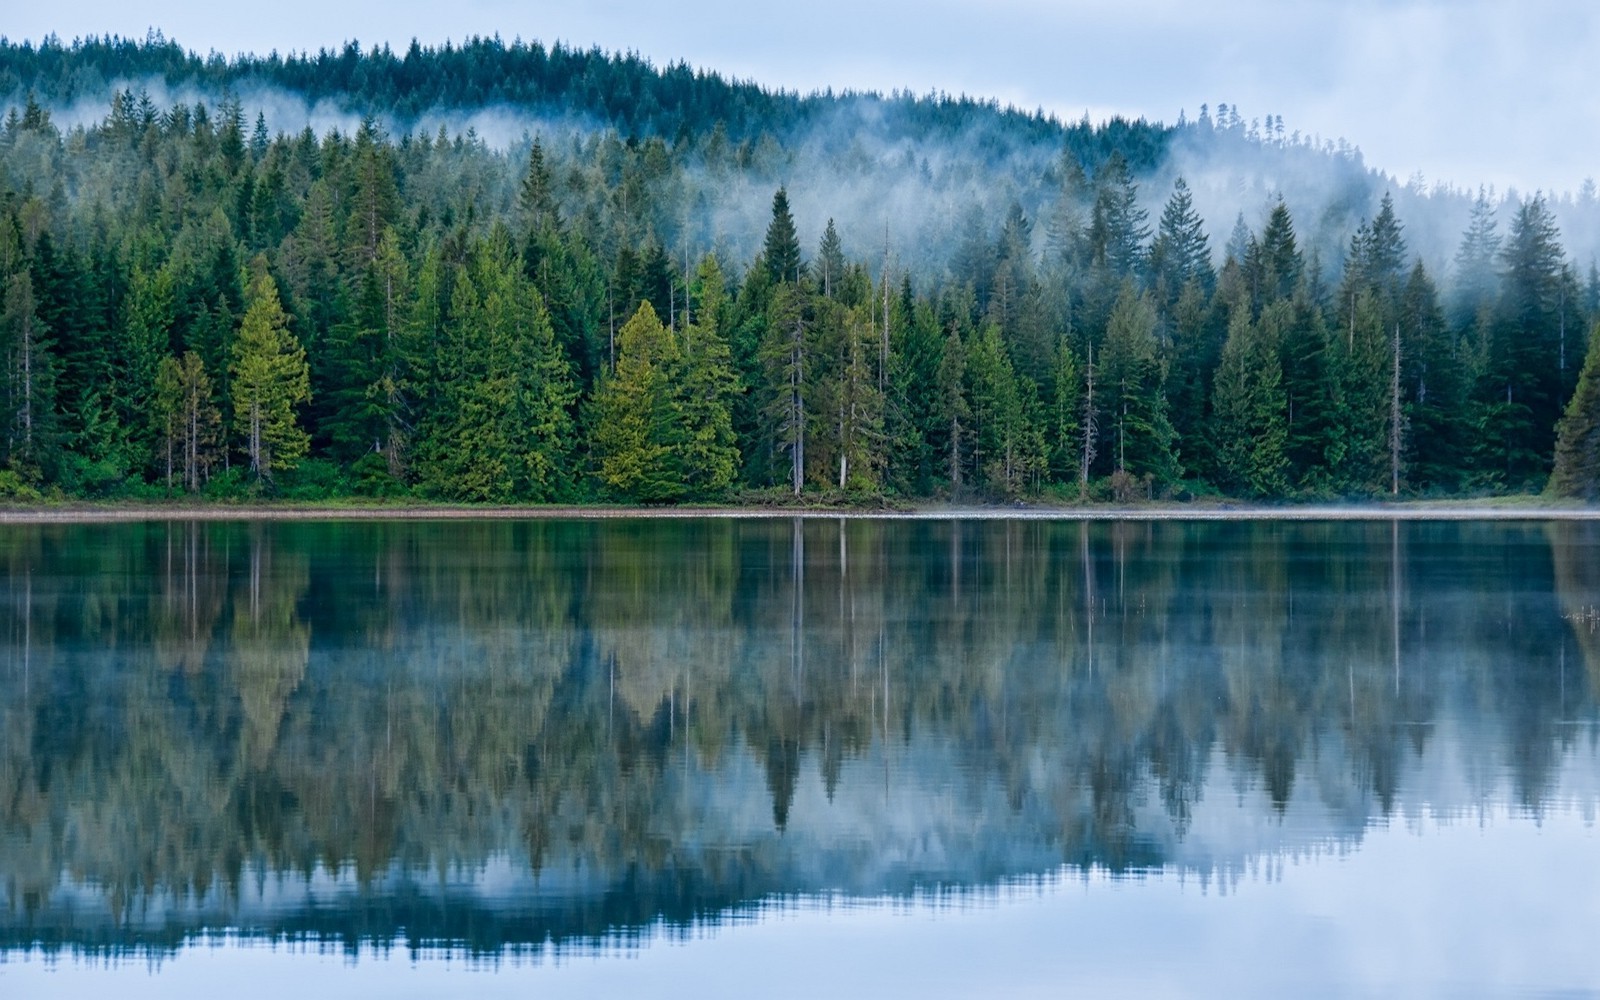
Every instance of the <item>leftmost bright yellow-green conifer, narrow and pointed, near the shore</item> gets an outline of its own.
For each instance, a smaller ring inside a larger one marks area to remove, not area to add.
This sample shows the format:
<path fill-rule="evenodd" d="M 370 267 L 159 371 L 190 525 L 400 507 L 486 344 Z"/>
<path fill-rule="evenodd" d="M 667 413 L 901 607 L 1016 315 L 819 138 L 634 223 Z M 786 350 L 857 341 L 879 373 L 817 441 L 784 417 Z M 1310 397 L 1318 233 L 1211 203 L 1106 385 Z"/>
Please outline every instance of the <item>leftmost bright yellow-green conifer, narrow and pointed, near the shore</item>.
<path fill-rule="evenodd" d="M 306 349 L 290 333 L 266 258 L 251 261 L 251 270 L 229 373 L 234 430 L 243 438 L 250 472 L 259 482 L 270 480 L 277 469 L 293 469 L 310 446 L 310 435 L 294 414 L 310 398 L 310 371 Z"/>

